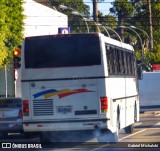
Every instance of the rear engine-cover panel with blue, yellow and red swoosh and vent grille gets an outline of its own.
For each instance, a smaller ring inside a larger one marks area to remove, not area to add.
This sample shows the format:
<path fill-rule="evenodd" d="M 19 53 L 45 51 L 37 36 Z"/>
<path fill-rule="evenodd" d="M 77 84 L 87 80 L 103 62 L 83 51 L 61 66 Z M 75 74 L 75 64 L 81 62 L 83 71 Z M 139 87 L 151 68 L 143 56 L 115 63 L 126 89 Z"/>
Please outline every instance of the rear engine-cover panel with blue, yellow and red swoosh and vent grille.
<path fill-rule="evenodd" d="M 36 82 L 31 88 L 32 119 L 98 117 L 97 81 Z"/>

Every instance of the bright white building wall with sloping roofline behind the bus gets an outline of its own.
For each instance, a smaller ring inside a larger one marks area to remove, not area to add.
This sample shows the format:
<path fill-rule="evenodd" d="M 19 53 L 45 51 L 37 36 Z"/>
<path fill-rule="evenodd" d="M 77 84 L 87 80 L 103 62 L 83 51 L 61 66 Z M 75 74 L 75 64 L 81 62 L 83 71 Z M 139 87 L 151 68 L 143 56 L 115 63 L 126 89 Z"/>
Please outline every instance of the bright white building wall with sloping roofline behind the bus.
<path fill-rule="evenodd" d="M 25 37 L 57 34 L 59 27 L 68 26 L 68 17 L 50 7 L 33 0 L 26 0 L 23 6 Z"/>

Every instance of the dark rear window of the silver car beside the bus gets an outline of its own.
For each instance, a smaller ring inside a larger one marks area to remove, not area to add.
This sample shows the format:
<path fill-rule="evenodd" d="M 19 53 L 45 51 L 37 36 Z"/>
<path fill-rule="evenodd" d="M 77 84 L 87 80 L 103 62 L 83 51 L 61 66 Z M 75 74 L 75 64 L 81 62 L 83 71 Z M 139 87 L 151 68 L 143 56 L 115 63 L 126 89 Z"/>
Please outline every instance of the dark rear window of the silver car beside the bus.
<path fill-rule="evenodd" d="M 0 99 L 0 109 L 1 108 L 16 108 L 22 107 L 22 100 L 19 98 L 13 99 Z"/>

